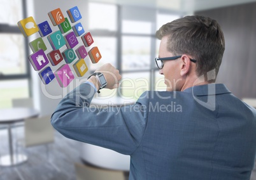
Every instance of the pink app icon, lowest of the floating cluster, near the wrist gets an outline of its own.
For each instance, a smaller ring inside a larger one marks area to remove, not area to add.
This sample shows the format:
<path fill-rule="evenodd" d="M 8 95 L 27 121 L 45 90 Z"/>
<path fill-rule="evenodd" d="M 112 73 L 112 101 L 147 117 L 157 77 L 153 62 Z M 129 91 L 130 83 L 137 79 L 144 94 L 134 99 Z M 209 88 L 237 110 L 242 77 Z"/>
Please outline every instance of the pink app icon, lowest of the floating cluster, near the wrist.
<path fill-rule="evenodd" d="M 73 72 L 67 64 L 62 65 L 59 69 L 55 71 L 54 74 L 57 81 L 59 82 L 60 87 L 67 87 L 70 82 L 75 79 Z"/>

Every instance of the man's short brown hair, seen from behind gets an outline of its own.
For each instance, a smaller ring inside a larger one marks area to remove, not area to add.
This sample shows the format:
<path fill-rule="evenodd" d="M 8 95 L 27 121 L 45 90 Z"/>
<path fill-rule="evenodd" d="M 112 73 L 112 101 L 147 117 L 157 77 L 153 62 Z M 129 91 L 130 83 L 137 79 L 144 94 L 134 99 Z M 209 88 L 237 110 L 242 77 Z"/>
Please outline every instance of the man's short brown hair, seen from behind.
<path fill-rule="evenodd" d="M 167 49 L 173 55 L 187 54 L 196 62 L 196 74 L 215 70 L 218 74 L 225 50 L 225 39 L 216 20 L 205 16 L 185 16 L 166 23 L 156 32 L 157 38 L 169 36 Z"/>

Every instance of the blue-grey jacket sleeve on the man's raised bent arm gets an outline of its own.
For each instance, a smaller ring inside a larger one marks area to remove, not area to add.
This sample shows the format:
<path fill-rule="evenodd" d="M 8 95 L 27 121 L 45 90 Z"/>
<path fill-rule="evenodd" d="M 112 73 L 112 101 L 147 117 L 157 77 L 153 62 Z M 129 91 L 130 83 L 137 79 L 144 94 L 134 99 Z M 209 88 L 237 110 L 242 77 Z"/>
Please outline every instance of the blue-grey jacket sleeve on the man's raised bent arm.
<path fill-rule="evenodd" d="M 104 109 L 89 106 L 94 94 L 94 87 L 87 83 L 71 91 L 53 113 L 53 127 L 67 138 L 131 155 L 146 127 L 146 92 L 134 105 Z"/>

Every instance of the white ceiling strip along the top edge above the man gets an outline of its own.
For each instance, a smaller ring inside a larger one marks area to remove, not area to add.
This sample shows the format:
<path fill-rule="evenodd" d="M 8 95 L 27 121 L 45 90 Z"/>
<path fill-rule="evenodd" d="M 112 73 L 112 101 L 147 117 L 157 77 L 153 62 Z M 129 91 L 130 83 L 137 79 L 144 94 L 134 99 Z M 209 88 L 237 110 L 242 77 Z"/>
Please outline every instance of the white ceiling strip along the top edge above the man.
<path fill-rule="evenodd" d="M 90 0 L 101 3 L 114 3 L 130 6 L 146 6 L 163 10 L 191 13 L 236 4 L 256 2 L 256 0 Z"/>

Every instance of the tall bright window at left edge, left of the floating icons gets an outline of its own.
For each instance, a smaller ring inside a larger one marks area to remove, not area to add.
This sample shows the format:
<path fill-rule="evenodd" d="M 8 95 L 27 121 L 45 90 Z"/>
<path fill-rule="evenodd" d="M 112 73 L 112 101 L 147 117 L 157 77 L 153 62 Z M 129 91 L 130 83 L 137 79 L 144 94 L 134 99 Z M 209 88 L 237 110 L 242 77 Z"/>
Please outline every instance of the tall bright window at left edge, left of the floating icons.
<path fill-rule="evenodd" d="M 29 97 L 28 45 L 18 29 L 25 0 L 2 0 L 0 7 L 0 108 L 10 108 L 13 98 Z"/>

